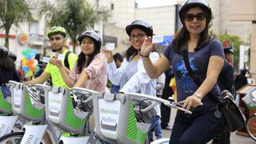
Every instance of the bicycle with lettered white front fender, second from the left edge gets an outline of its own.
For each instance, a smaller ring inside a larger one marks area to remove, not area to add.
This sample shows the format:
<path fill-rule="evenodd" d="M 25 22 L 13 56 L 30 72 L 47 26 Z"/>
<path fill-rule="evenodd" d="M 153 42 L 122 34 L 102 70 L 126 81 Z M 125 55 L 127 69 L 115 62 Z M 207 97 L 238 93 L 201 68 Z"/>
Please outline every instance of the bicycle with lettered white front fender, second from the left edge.
<path fill-rule="evenodd" d="M 19 82 L 10 81 L 12 110 L 18 117 L 30 121 L 22 131 L 6 134 L 0 138 L 0 143 L 46 143 L 45 131 L 50 141 L 57 143 L 58 135 L 51 124 L 45 121 L 43 101 L 44 90 L 38 86 L 26 86 Z"/>

